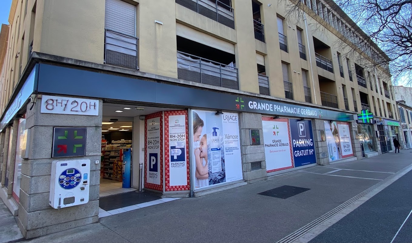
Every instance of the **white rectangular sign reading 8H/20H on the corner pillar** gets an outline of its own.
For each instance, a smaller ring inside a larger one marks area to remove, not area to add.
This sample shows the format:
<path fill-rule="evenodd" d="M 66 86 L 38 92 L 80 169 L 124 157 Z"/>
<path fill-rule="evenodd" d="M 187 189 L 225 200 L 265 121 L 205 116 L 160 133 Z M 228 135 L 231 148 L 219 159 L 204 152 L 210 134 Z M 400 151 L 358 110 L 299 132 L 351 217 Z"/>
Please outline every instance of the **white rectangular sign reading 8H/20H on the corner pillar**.
<path fill-rule="evenodd" d="M 98 116 L 99 101 L 62 96 L 42 96 L 41 113 Z"/>

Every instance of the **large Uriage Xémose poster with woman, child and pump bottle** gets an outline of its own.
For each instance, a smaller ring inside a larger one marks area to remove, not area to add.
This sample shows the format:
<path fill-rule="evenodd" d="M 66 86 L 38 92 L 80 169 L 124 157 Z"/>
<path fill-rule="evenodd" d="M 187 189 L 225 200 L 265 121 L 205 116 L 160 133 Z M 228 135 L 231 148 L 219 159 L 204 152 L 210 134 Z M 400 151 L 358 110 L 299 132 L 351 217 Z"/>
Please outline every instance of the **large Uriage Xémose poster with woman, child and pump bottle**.
<path fill-rule="evenodd" d="M 243 179 L 237 113 L 192 111 L 195 189 Z"/>

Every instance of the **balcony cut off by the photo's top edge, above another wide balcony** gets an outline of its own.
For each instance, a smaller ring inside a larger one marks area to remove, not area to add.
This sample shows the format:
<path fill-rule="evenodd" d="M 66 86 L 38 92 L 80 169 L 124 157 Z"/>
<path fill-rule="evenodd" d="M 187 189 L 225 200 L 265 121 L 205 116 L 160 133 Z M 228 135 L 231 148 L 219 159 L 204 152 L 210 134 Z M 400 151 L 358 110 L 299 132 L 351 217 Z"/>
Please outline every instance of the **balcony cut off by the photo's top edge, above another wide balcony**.
<path fill-rule="evenodd" d="M 233 8 L 223 2 L 218 0 L 176 0 L 176 3 L 234 29 Z"/>

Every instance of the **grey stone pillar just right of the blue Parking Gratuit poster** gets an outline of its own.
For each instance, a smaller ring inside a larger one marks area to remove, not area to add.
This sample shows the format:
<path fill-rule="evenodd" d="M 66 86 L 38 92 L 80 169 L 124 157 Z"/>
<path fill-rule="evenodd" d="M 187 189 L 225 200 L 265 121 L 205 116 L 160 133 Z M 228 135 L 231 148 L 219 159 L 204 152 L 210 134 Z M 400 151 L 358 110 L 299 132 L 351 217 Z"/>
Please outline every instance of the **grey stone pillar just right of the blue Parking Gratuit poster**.
<path fill-rule="evenodd" d="M 329 164 L 328 143 L 321 141 L 321 131 L 325 132 L 325 123 L 321 119 L 312 120 L 313 138 L 315 142 L 316 163 L 319 165 Z M 322 154 L 326 153 L 326 157 Z"/>

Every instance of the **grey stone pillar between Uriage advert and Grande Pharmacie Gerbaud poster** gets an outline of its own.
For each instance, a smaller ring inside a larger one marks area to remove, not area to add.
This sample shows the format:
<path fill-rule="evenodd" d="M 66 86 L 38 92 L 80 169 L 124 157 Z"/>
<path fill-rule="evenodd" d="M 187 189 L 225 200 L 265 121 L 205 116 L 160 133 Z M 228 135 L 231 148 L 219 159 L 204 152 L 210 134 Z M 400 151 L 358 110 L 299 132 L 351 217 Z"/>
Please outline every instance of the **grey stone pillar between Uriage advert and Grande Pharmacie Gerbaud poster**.
<path fill-rule="evenodd" d="M 242 151 L 243 179 L 248 183 L 264 180 L 267 176 L 265 161 L 265 145 L 262 129 L 262 115 L 256 113 L 240 113 L 240 142 Z M 259 129 L 260 145 L 250 144 L 250 129 Z M 251 168 L 252 162 L 260 162 L 261 169 Z"/>

